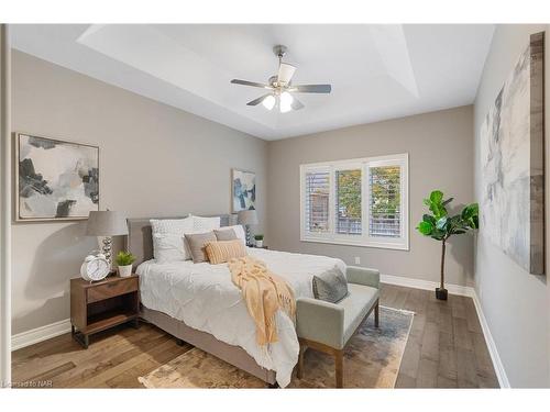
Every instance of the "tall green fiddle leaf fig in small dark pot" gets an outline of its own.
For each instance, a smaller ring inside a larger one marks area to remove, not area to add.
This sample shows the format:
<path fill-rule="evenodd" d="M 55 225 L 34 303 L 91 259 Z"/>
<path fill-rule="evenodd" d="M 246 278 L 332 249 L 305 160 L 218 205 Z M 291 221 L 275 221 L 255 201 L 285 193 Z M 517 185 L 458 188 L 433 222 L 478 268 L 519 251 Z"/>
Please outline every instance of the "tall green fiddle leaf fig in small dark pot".
<path fill-rule="evenodd" d="M 468 204 L 460 214 L 450 216 L 447 207 L 452 201 L 453 198 L 443 200 L 443 192 L 433 190 L 430 197 L 424 200 L 424 204 L 428 207 L 431 213 L 425 214 L 417 226 L 418 232 L 422 235 L 441 242 L 441 285 L 436 288 L 436 298 L 439 300 L 447 300 L 448 294 L 444 288 L 447 241 L 453 235 L 464 234 L 480 226 L 477 203 Z"/>

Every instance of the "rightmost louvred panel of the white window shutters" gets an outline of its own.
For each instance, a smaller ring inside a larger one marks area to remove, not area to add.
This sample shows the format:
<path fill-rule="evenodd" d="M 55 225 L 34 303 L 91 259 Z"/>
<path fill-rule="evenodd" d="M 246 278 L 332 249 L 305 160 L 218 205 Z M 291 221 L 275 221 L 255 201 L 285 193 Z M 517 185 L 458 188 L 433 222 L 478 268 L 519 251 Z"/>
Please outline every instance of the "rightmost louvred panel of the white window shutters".
<path fill-rule="evenodd" d="M 400 237 L 400 167 L 377 166 L 369 171 L 369 234 L 374 237 Z"/>

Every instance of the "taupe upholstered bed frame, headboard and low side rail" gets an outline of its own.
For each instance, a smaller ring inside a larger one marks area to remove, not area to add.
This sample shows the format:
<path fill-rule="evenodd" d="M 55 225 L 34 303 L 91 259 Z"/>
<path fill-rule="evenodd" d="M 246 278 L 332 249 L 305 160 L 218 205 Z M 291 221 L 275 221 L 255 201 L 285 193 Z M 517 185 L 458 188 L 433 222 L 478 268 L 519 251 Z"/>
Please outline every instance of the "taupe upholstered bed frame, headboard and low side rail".
<path fill-rule="evenodd" d="M 144 218 L 128 220 L 128 236 L 125 248 L 135 257 L 135 265 L 153 258 L 153 237 L 150 219 L 183 219 L 183 218 Z M 221 226 L 230 226 L 237 223 L 237 215 L 220 215 Z M 270 386 L 276 386 L 275 371 L 267 370 L 256 364 L 242 347 L 229 345 L 218 341 L 213 335 L 187 326 L 185 322 L 170 315 L 141 305 L 140 318 L 178 339 L 185 341 L 201 350 L 205 350 L 228 364 L 231 364 L 249 374 L 262 379 Z"/>

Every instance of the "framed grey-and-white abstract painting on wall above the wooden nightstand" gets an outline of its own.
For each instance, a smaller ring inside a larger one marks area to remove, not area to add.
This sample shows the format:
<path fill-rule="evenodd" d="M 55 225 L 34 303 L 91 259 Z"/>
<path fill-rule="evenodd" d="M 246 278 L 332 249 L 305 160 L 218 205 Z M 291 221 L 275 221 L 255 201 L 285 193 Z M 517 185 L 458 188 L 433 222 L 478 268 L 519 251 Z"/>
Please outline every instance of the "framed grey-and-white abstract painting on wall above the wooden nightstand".
<path fill-rule="evenodd" d="M 15 134 L 15 221 L 88 219 L 99 210 L 99 147 Z"/>

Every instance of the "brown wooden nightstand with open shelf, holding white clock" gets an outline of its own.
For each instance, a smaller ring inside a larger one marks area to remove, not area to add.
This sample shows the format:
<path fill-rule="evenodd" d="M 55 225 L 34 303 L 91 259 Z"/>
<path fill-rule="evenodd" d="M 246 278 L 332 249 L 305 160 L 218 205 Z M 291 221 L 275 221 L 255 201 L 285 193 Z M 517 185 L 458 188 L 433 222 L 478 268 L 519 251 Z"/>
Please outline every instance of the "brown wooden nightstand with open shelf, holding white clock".
<path fill-rule="evenodd" d="M 97 282 L 70 279 L 70 323 L 75 341 L 88 348 L 89 336 L 125 322 L 138 327 L 140 278 L 110 276 Z"/>

